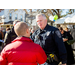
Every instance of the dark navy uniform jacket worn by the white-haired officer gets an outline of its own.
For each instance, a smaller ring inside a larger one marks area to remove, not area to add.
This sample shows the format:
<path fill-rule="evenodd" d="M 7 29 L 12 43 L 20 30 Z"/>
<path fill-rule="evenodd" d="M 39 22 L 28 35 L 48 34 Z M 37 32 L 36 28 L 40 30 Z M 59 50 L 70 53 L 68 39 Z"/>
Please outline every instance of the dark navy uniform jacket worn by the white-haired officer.
<path fill-rule="evenodd" d="M 39 44 L 46 53 L 56 52 L 62 63 L 67 63 L 67 52 L 64 46 L 60 31 L 52 26 L 47 25 L 44 30 L 35 31 L 31 39 L 34 43 Z"/>

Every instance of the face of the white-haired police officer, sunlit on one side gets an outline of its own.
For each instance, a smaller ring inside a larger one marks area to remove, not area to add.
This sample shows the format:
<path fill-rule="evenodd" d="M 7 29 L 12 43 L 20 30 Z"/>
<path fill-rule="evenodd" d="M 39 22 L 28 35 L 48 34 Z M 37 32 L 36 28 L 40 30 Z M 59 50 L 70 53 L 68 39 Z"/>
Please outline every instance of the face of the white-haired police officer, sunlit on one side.
<path fill-rule="evenodd" d="M 36 17 L 36 21 L 37 21 L 37 24 L 38 24 L 39 28 L 42 29 L 42 30 L 47 25 L 47 19 L 45 19 L 43 16 Z"/>

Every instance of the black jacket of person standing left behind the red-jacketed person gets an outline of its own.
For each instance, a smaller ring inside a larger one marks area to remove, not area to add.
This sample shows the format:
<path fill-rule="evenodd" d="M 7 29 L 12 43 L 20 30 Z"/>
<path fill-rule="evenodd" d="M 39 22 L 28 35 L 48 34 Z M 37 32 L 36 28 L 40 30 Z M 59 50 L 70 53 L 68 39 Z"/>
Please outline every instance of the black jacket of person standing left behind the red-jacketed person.
<path fill-rule="evenodd" d="M 16 37 L 17 37 L 17 35 L 14 32 L 14 27 L 13 27 L 11 30 L 7 31 L 7 33 L 5 34 L 4 46 L 6 46 L 7 44 L 11 43 L 11 41 L 13 41 Z"/>

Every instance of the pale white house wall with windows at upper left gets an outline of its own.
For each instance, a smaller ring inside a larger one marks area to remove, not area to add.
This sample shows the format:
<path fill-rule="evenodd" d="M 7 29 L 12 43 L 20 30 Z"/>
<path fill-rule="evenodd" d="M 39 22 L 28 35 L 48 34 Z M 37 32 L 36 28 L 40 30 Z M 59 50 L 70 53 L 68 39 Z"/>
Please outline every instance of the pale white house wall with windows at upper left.
<path fill-rule="evenodd" d="M 0 22 L 6 23 L 12 23 L 14 20 L 20 20 L 25 22 L 25 11 L 23 9 L 18 9 L 17 11 L 14 11 L 14 9 L 4 9 L 0 12 Z"/>

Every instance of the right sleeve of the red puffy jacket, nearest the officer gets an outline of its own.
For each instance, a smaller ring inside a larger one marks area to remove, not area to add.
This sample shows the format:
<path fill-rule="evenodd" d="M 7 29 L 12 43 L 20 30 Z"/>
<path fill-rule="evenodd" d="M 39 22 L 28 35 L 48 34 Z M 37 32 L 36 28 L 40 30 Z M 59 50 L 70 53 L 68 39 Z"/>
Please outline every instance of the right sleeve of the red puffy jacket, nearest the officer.
<path fill-rule="evenodd" d="M 38 64 L 44 64 L 47 61 L 47 56 L 40 45 L 37 47 L 36 60 Z"/>

